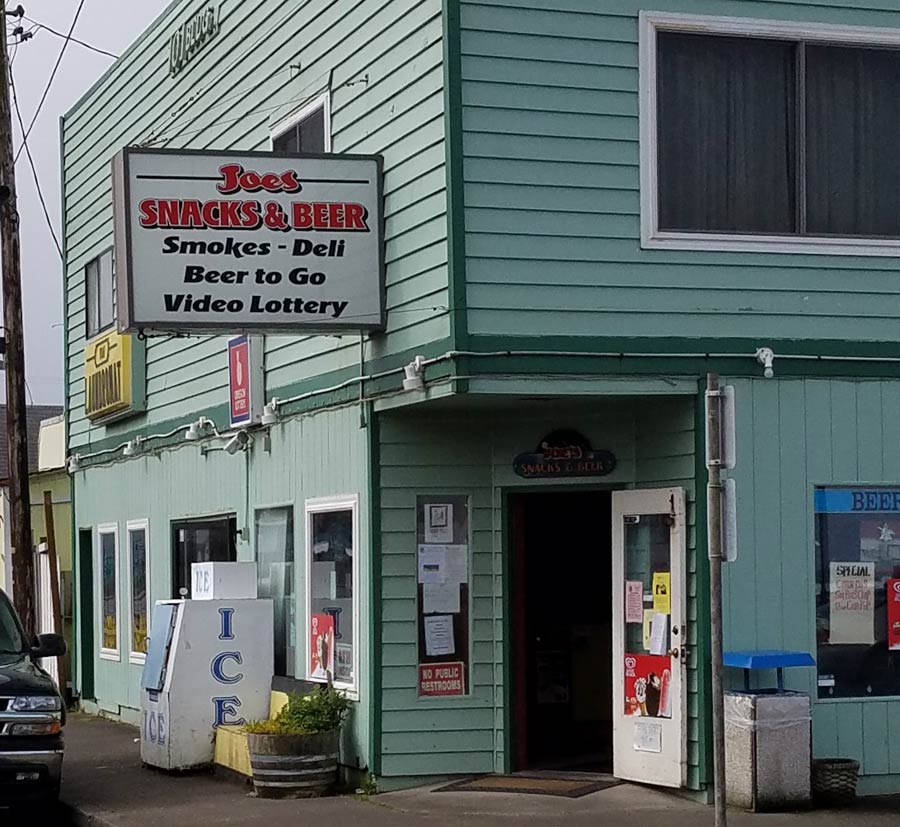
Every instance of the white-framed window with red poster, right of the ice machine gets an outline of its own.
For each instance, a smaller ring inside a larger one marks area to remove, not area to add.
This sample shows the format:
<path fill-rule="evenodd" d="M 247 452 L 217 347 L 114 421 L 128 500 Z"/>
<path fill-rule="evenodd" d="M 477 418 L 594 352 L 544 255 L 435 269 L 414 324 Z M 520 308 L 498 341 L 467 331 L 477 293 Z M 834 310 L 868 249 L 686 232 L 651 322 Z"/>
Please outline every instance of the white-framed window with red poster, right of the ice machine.
<path fill-rule="evenodd" d="M 356 497 L 306 503 L 306 676 L 353 690 L 359 670 Z"/>

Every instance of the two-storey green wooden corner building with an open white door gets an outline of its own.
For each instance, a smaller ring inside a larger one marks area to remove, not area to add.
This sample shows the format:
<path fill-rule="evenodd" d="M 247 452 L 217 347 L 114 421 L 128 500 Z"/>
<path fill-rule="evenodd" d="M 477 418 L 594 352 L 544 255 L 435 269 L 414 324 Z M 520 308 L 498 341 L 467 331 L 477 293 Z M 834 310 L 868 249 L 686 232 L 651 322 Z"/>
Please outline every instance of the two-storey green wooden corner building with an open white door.
<path fill-rule="evenodd" d="M 282 677 L 339 618 L 382 789 L 703 793 L 716 372 L 726 649 L 812 653 L 814 755 L 900 792 L 898 49 L 888 0 L 175 0 L 61 123 L 84 705 L 136 721 L 148 606 L 256 560 Z M 190 430 L 224 338 L 115 332 L 125 146 L 383 156 L 387 328 L 255 340 L 247 450 Z"/>

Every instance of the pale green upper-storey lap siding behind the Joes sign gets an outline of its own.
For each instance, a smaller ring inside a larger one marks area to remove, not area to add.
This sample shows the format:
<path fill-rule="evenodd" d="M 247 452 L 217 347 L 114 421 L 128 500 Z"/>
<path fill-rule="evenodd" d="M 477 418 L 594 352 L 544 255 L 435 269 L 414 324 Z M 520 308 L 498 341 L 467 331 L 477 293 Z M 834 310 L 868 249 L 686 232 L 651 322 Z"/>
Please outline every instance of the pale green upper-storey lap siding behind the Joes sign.
<path fill-rule="evenodd" d="M 170 78 L 168 37 L 205 5 L 170 6 L 63 120 L 72 448 L 227 399 L 222 338 L 154 339 L 147 414 L 109 427 L 84 417 L 84 267 L 112 244 L 109 165 L 125 145 L 268 149 L 271 127 L 330 88 L 334 150 L 385 158 L 388 333 L 366 358 L 449 332 L 440 0 L 224 0 L 218 36 Z M 268 392 L 359 358 L 354 336 L 271 337 Z"/>

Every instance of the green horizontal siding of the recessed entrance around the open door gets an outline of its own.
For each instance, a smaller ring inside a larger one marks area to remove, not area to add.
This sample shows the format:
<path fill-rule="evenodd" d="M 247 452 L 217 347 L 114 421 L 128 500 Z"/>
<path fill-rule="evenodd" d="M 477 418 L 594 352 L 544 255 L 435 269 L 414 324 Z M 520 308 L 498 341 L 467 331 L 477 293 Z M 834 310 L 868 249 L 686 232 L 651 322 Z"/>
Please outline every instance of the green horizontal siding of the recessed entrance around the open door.
<path fill-rule="evenodd" d="M 612 487 L 683 486 L 689 522 L 694 508 L 694 398 L 598 399 L 588 413 L 559 402 L 553 413 L 519 404 L 494 413 L 459 416 L 385 415 L 381 421 L 382 603 L 384 635 L 383 776 L 503 772 L 506 754 L 504 494 L 528 488 L 571 486 L 578 481 L 526 481 L 513 458 L 563 425 L 581 430 L 619 463 L 602 484 Z M 596 485 L 598 481 L 581 481 Z M 419 494 L 465 493 L 472 525 L 472 691 L 469 697 L 419 699 L 416 649 L 415 501 Z M 694 532 L 688 567 L 694 571 Z M 694 577 L 689 612 L 696 618 Z M 696 630 L 691 631 L 693 642 Z M 689 670 L 689 780 L 699 785 L 698 705 L 695 663 Z M 376 699 L 378 702 L 378 699 Z"/>

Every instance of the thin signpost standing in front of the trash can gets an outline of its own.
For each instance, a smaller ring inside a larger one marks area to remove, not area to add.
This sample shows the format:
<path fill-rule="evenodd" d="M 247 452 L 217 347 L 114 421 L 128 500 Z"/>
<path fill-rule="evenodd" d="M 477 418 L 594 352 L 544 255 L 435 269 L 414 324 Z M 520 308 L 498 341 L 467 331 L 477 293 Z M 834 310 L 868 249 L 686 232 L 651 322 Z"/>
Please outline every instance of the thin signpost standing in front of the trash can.
<path fill-rule="evenodd" d="M 716 827 L 725 827 L 725 695 L 722 689 L 722 391 L 719 377 L 706 377 L 707 525 L 712 638 L 713 781 Z"/>

